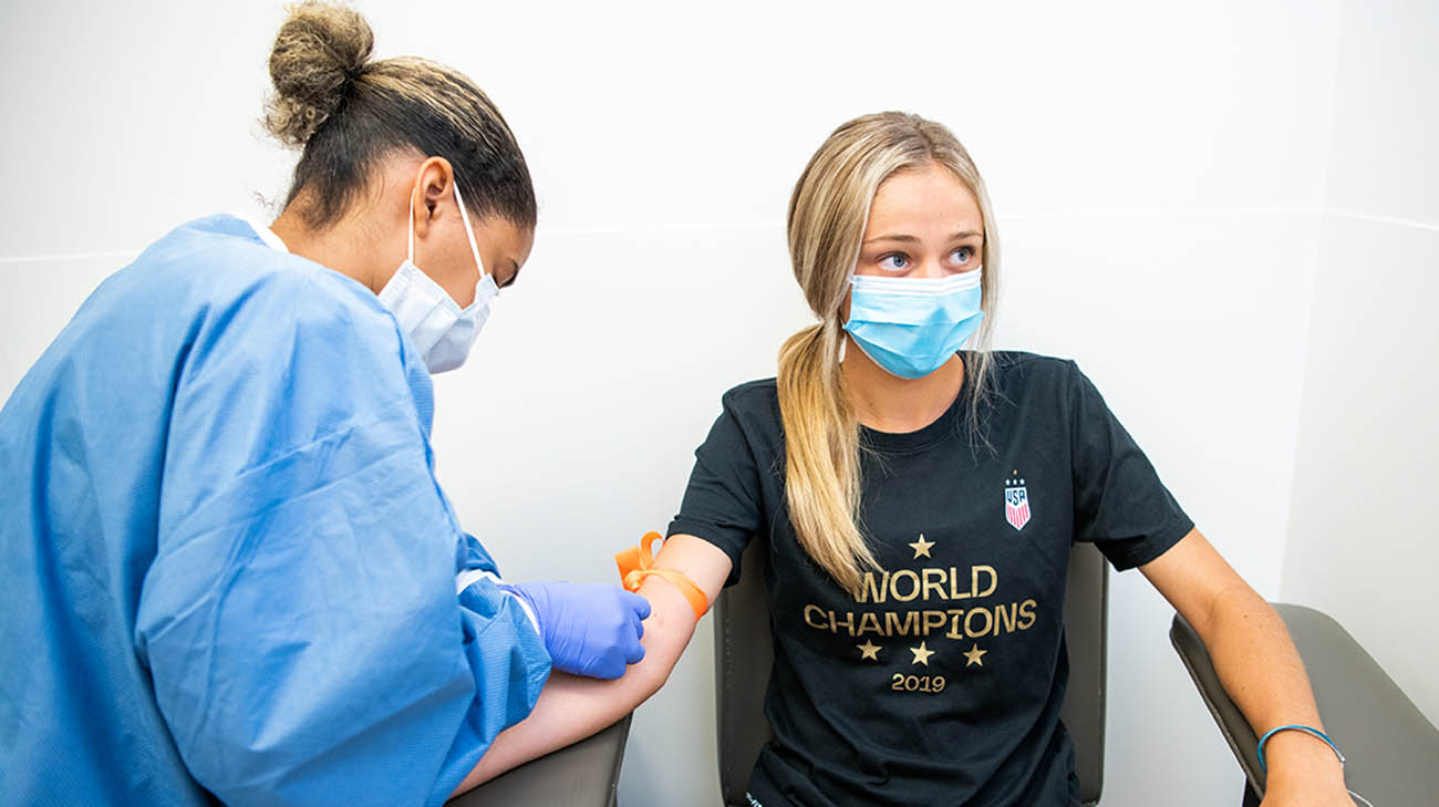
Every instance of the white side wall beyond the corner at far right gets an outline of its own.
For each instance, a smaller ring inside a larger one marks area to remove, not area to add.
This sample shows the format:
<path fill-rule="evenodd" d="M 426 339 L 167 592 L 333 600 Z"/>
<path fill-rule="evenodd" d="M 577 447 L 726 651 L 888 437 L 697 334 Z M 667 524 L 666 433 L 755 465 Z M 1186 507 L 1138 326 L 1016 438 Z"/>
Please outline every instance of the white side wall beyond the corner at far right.
<path fill-rule="evenodd" d="M 1282 593 L 1439 724 L 1439 7 L 1343 20 Z"/>

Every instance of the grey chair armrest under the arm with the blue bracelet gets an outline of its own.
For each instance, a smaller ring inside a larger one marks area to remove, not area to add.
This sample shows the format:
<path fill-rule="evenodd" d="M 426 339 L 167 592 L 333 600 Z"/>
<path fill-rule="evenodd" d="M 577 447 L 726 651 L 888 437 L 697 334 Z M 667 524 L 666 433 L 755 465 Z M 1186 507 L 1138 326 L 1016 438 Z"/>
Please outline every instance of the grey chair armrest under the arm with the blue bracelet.
<path fill-rule="evenodd" d="M 1430 803 L 1439 793 L 1439 729 L 1331 617 L 1302 606 L 1274 608 L 1304 659 L 1325 732 L 1348 758 L 1348 788 L 1381 806 Z M 1259 741 L 1219 683 L 1204 643 L 1179 614 L 1170 642 L 1250 787 L 1263 795 Z"/>

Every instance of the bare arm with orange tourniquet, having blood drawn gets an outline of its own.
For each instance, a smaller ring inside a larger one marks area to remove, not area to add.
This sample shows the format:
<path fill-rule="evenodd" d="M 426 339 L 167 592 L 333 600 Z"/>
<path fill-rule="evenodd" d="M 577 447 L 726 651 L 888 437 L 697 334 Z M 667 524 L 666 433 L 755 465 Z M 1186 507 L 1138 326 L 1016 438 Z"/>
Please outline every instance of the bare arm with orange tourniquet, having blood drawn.
<path fill-rule="evenodd" d="M 665 541 L 653 565 L 682 573 L 704 590 L 711 603 L 724 587 L 731 567 L 730 555 L 692 535 L 673 535 Z M 551 673 L 530 716 L 495 738 L 452 795 L 599 732 L 659 690 L 689 644 L 695 611 L 689 600 L 659 575 L 646 578 L 639 593 L 650 603 L 642 637 L 645 659 L 613 680 Z"/>

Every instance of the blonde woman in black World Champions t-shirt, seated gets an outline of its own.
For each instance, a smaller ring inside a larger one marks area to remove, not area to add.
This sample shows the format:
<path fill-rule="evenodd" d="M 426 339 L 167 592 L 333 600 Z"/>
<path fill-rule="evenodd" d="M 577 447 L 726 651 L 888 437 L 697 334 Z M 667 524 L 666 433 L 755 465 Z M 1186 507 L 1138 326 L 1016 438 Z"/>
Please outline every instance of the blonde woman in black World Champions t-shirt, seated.
<path fill-rule="evenodd" d="M 1168 598 L 1258 734 L 1322 729 L 1279 619 L 1073 363 L 984 350 L 994 216 L 948 129 L 895 112 L 842 125 L 794 188 L 789 240 L 820 322 L 786 342 L 777 380 L 724 396 L 656 558 L 712 601 L 764 542 L 774 741 L 755 806 L 1078 804 L 1059 721 L 1073 541 Z M 659 686 L 695 617 L 669 580 L 640 591 L 646 660 L 548 688 L 495 762 L 541 726 L 600 722 L 593 689 L 613 695 L 607 719 Z M 1265 751 L 1268 807 L 1351 804 L 1315 734 Z"/>

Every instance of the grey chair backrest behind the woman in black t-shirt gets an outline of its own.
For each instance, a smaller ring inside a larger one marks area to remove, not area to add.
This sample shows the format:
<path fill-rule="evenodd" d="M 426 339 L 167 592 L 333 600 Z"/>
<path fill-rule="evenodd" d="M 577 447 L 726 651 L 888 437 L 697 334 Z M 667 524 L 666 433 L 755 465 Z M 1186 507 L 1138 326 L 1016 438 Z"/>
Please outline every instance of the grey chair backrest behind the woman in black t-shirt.
<path fill-rule="evenodd" d="M 745 787 L 760 748 L 774 737 L 764 716 L 764 692 L 774 665 L 770 608 L 764 596 L 768 565 L 763 541 L 750 541 L 740 583 L 715 601 L 715 725 L 720 731 L 720 791 L 727 807 L 750 807 Z M 1104 685 L 1109 565 L 1092 544 L 1069 552 L 1065 640 L 1069 689 L 1062 718 L 1075 744 L 1075 771 L 1085 807 L 1104 785 Z"/>

